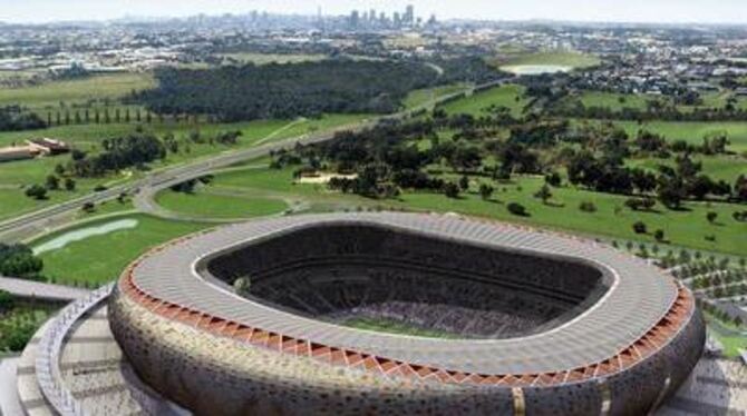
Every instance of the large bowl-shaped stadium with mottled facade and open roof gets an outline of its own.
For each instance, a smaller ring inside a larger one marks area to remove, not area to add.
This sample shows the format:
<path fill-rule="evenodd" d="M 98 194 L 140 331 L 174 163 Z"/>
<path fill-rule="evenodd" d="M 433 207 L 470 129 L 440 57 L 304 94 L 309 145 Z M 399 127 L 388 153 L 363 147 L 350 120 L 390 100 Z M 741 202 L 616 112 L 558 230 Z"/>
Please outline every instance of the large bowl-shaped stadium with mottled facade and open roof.
<path fill-rule="evenodd" d="M 100 299 L 158 414 L 642 415 L 706 338 L 646 260 L 449 215 L 232 225 L 152 250 Z"/>

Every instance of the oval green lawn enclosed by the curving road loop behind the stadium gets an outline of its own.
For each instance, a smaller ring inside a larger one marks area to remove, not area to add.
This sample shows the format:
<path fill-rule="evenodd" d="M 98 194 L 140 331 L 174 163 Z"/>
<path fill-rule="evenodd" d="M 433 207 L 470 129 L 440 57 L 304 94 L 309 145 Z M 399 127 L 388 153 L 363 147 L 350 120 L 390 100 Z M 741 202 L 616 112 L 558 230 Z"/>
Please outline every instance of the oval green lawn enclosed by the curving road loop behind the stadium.
<path fill-rule="evenodd" d="M 158 194 L 156 201 L 169 211 L 204 218 L 261 217 L 280 214 L 288 209 L 282 200 L 215 195 L 205 191 L 184 194 L 166 190 Z"/>

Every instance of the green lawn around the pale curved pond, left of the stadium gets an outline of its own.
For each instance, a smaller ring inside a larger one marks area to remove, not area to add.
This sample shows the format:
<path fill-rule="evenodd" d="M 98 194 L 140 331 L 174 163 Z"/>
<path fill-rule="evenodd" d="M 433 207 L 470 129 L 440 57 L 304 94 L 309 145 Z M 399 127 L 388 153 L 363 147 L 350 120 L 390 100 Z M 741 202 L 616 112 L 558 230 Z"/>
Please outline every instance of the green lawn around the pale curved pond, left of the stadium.
<path fill-rule="evenodd" d="M 135 214 L 74 226 L 41 237 L 30 245 L 31 247 L 38 246 L 74 230 L 122 219 L 135 219 L 138 222 L 132 229 L 69 242 L 60 249 L 40 255 L 45 263 L 42 274 L 61 284 L 91 283 L 100 285 L 116 279 L 129 263 L 149 248 L 210 227 L 205 224 L 168 221 L 144 214 Z"/>

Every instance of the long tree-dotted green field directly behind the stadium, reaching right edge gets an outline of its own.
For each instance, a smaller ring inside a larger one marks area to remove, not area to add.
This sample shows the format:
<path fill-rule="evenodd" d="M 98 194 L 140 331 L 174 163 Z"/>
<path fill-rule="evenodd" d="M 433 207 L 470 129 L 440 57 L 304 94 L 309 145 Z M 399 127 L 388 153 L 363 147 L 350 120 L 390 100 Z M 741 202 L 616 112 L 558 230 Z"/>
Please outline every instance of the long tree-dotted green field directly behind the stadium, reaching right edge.
<path fill-rule="evenodd" d="M 284 170 L 246 170 L 235 171 L 215 177 L 216 185 L 245 187 L 248 189 L 272 190 L 278 194 L 294 195 L 311 201 L 326 200 L 338 206 L 381 206 L 384 208 L 406 208 L 425 211 L 460 212 L 477 217 L 522 222 L 552 229 L 576 231 L 610 239 L 636 240 L 647 244 L 654 242 L 652 234 L 657 229 L 664 231 L 670 245 L 685 246 L 693 249 L 747 256 L 747 225 L 736 222 L 731 215 L 744 207 L 729 204 L 687 204 L 680 211 L 668 210 L 660 205 L 648 212 L 631 211 L 624 208 L 627 197 L 591 192 L 563 187 L 552 189 L 554 194 L 549 205 L 542 204 L 534 194 L 543 185 L 542 178 L 517 178 L 511 184 L 497 185 L 494 200 L 484 201 L 475 190 L 478 182 L 473 180 L 472 192 L 463 194 L 459 199 L 449 199 L 440 194 L 404 192 L 397 199 L 371 200 L 351 195 L 331 192 L 323 186 L 292 185 L 292 169 Z M 495 185 L 494 185 L 495 186 Z M 583 212 L 579 209 L 582 201 L 596 206 L 595 212 Z M 528 217 L 511 215 L 506 205 L 520 202 L 530 212 Z M 711 225 L 706 219 L 708 211 L 718 214 L 718 220 Z M 637 235 L 632 225 L 641 220 L 648 226 L 648 234 Z M 714 241 L 706 240 L 714 236 Z M 661 245 L 666 249 L 667 244 Z"/>

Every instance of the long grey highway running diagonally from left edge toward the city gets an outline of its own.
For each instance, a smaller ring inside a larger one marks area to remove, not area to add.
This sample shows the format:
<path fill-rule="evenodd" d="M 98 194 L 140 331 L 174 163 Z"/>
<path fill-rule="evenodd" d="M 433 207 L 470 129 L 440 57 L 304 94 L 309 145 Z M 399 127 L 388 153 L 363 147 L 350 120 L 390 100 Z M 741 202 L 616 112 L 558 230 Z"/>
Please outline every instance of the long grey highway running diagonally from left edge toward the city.
<path fill-rule="evenodd" d="M 492 81 L 485 85 L 476 86 L 473 90 L 497 87 L 503 82 L 503 80 Z M 249 149 L 227 151 L 208 158 L 202 158 L 184 165 L 154 171 L 139 180 L 115 186 L 104 191 L 89 194 L 81 198 L 72 199 L 52 207 L 2 221 L 0 222 L 0 241 L 23 241 L 39 234 L 48 231 L 51 228 L 60 227 L 69 222 L 74 218 L 75 214 L 86 204 L 100 204 L 106 200 L 115 199 L 120 194 L 137 194 L 144 191 L 149 192 L 151 195 L 155 195 L 155 192 L 158 190 L 190 179 L 198 178 L 210 174 L 215 169 L 225 168 L 242 161 L 266 156 L 271 151 L 277 151 L 280 149 L 292 149 L 298 142 L 303 145 L 317 143 L 331 139 L 337 131 L 360 131 L 362 129 L 376 126 L 376 123 L 381 120 L 405 119 L 411 115 L 427 110 L 428 108 L 431 108 L 439 102 L 450 100 L 463 93 L 464 92 L 456 92 L 438 97 L 416 108 L 404 110 L 395 115 L 373 118 L 371 120 L 363 120 L 362 122 L 356 125 L 343 126 L 333 130 L 328 130 L 314 135 L 304 135 L 291 139 L 266 142 Z"/>

